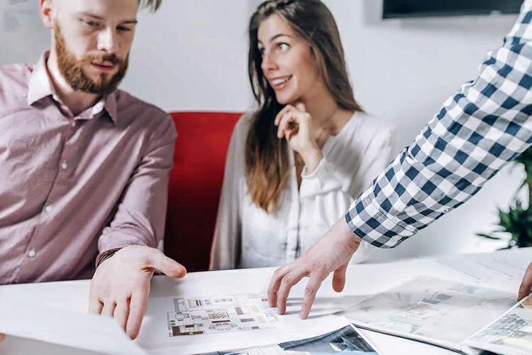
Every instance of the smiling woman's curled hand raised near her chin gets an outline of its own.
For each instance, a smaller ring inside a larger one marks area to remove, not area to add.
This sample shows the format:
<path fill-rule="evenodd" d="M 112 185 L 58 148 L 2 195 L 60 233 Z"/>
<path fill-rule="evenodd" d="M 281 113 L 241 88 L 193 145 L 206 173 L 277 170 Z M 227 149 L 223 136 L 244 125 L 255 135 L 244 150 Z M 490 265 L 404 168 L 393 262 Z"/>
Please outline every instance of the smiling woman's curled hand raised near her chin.
<path fill-rule="evenodd" d="M 286 138 L 289 146 L 301 155 L 308 173 L 316 169 L 322 158 L 311 122 L 312 117 L 304 104 L 287 105 L 275 117 L 277 137 Z"/>

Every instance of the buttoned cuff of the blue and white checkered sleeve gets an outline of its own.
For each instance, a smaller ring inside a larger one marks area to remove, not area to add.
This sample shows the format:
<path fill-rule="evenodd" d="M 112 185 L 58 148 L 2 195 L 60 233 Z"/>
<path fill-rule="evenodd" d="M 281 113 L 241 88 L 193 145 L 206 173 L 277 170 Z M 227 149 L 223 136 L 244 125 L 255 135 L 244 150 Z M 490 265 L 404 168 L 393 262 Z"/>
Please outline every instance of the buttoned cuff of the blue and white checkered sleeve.
<path fill-rule="evenodd" d="M 381 209 L 373 187 L 350 205 L 345 221 L 361 239 L 382 249 L 395 248 L 417 232 L 413 226 Z"/>

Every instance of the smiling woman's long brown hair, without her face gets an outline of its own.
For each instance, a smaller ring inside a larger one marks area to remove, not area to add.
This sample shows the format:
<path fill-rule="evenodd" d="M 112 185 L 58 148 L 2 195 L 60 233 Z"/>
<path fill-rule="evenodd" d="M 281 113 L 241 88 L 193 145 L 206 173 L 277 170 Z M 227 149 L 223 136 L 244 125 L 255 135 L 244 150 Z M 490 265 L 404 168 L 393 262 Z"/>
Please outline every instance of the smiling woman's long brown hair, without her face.
<path fill-rule="evenodd" d="M 342 43 L 331 11 L 319 0 L 268 0 L 258 6 L 249 26 L 248 71 L 258 109 L 245 145 L 245 178 L 251 200 L 266 212 L 279 208 L 290 173 L 288 143 L 277 138 L 275 116 L 284 107 L 262 73 L 257 32 L 262 21 L 277 14 L 309 43 L 316 69 L 338 107 L 362 111 L 353 97 Z"/>

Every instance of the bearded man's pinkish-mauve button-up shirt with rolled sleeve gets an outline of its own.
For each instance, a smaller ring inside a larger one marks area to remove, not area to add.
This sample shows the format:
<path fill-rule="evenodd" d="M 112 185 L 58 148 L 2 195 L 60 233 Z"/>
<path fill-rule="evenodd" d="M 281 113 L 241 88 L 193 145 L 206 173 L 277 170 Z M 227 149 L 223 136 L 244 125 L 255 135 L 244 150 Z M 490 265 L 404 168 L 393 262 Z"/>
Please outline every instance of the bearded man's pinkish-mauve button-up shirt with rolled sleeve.
<path fill-rule="evenodd" d="M 172 118 L 120 90 L 74 116 L 45 58 L 0 66 L 0 285 L 90 278 L 164 232 Z"/>

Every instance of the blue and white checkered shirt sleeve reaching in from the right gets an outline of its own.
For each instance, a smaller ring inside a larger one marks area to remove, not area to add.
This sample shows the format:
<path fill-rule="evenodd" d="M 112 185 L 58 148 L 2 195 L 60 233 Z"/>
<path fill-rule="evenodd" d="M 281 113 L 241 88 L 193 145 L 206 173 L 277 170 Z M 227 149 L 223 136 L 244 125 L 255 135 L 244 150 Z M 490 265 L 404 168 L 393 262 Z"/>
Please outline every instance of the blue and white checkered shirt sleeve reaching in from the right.
<path fill-rule="evenodd" d="M 475 195 L 532 144 L 532 0 L 477 80 L 443 105 L 345 219 L 363 240 L 393 248 Z"/>

